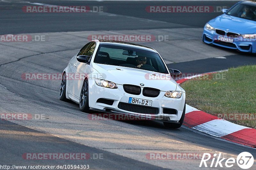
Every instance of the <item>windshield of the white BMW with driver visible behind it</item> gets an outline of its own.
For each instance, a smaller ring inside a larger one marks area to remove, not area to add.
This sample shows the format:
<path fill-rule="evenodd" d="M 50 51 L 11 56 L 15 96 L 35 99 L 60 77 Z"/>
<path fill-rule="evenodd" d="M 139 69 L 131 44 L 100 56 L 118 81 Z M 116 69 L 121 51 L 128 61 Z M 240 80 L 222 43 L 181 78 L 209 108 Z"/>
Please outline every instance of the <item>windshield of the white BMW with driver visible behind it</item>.
<path fill-rule="evenodd" d="M 157 53 L 121 46 L 100 45 L 94 63 L 131 67 L 168 74 Z"/>

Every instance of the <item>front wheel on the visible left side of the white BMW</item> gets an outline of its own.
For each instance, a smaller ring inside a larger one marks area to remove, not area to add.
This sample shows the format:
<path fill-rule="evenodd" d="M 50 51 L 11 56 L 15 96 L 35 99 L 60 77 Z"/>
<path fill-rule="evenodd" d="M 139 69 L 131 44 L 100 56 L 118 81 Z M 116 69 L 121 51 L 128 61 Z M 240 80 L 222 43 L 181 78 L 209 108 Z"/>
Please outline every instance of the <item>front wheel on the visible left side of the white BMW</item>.
<path fill-rule="evenodd" d="M 89 107 L 89 84 L 88 80 L 84 80 L 81 92 L 80 92 L 80 98 L 79 98 L 79 109 L 82 112 L 90 113 L 90 107 Z"/>

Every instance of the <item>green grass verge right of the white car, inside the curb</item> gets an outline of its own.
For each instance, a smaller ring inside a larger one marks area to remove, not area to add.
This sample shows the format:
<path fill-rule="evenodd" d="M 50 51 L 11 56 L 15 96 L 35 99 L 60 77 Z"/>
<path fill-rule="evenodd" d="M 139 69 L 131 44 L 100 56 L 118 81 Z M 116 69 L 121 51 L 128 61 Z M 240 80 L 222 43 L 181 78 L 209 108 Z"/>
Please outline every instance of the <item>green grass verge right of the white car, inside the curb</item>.
<path fill-rule="evenodd" d="M 231 68 L 181 84 L 186 102 L 211 115 L 256 128 L 256 65 Z"/>

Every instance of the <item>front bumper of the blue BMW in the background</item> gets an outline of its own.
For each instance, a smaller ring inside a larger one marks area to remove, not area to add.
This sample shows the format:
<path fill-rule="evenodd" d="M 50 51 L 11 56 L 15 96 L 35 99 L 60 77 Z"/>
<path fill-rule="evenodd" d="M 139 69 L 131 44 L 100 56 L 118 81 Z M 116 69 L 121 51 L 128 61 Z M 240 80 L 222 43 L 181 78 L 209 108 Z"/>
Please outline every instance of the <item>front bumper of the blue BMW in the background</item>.
<path fill-rule="evenodd" d="M 219 35 L 215 31 L 207 30 L 204 27 L 202 40 L 205 43 L 214 44 L 216 46 L 220 46 L 224 48 L 237 49 L 241 52 L 256 53 L 255 40 L 248 40 L 248 39 L 244 39 L 243 37 L 238 37 L 238 38 L 231 38 L 231 39 L 234 39 L 233 43 L 229 43 L 229 42 L 227 43 L 227 42 L 218 41 L 218 36 L 227 37 L 226 35 Z"/>

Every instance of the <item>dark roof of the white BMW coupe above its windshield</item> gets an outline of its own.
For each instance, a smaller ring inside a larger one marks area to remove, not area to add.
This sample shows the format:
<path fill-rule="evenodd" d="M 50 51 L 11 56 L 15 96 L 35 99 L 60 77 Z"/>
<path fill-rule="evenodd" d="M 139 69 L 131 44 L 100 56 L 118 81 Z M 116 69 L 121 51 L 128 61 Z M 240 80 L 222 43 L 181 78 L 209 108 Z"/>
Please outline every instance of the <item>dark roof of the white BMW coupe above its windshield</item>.
<path fill-rule="evenodd" d="M 150 48 L 147 46 L 134 44 L 134 43 L 130 43 L 130 42 L 112 41 L 112 40 L 98 40 L 98 41 L 100 41 L 100 44 L 102 44 L 102 45 L 114 45 L 114 46 L 122 46 L 122 47 L 128 47 L 128 48 L 137 48 L 137 49 L 157 53 L 157 51 L 154 48 Z"/>

